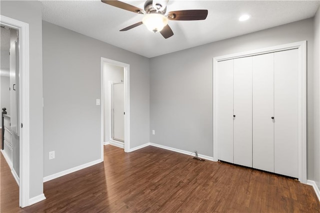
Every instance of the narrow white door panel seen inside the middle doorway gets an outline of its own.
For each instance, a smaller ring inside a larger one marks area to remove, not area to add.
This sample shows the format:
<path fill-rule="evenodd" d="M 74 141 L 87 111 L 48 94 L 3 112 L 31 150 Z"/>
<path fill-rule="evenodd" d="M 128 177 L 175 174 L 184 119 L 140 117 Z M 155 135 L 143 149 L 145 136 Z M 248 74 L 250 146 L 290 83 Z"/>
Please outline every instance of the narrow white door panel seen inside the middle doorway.
<path fill-rule="evenodd" d="M 113 139 L 124 140 L 124 85 L 113 84 Z"/>

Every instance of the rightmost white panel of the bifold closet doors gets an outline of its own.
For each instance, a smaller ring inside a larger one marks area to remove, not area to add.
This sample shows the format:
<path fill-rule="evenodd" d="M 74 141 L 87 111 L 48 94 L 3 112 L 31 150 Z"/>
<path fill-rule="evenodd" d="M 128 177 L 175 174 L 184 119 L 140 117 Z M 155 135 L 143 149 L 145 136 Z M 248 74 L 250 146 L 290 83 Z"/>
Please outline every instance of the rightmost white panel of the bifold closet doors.
<path fill-rule="evenodd" d="M 298 50 L 274 52 L 274 172 L 298 177 Z"/>

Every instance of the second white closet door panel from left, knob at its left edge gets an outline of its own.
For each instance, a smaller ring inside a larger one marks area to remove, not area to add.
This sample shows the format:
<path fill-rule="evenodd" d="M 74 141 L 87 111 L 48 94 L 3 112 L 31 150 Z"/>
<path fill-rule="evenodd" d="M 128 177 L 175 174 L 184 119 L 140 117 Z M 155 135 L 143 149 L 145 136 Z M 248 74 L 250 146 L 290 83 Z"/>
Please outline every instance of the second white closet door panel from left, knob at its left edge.
<path fill-rule="evenodd" d="M 234 59 L 233 162 L 252 167 L 252 57 Z"/>

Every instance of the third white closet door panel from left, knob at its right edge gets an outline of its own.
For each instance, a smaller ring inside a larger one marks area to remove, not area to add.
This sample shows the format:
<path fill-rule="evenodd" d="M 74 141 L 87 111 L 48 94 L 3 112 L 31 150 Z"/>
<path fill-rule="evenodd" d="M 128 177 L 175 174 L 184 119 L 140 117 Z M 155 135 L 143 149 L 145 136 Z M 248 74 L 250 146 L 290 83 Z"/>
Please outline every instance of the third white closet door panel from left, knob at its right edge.
<path fill-rule="evenodd" d="M 273 52 L 252 58 L 252 166 L 274 172 Z"/>

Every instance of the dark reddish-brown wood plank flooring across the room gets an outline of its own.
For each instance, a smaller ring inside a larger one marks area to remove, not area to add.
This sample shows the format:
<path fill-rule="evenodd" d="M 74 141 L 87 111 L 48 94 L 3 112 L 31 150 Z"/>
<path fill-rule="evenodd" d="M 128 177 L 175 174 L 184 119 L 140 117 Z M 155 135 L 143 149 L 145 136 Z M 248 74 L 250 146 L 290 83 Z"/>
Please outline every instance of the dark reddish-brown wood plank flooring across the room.
<path fill-rule="evenodd" d="M 22 209 L 14 207 L 16 188 L 5 187 L 14 179 L 3 161 L 1 212 L 320 212 L 312 187 L 293 179 L 152 146 L 125 153 L 111 145 L 104 162 L 45 182 L 46 199 Z"/>

